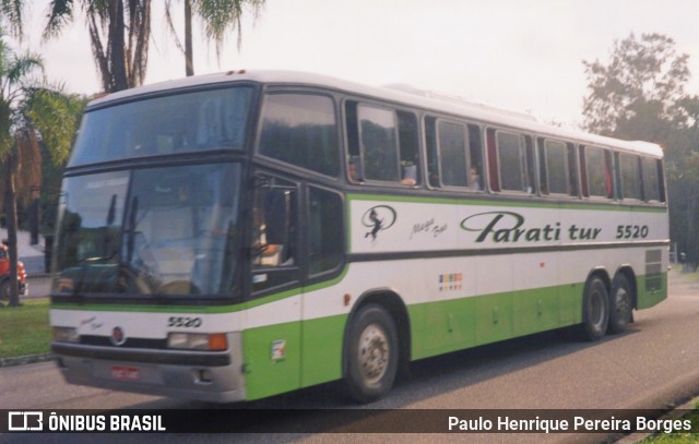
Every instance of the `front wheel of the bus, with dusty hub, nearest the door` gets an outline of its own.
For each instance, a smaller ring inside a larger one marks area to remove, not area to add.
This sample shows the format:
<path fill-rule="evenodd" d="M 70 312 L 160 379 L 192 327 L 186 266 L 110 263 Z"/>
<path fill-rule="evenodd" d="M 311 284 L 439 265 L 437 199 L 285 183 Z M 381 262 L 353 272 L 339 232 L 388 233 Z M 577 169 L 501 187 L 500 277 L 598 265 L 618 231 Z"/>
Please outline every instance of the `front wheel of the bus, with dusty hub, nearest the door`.
<path fill-rule="evenodd" d="M 371 403 L 393 386 L 399 344 L 395 324 L 380 305 L 359 309 L 347 332 L 345 385 L 357 403 Z"/>

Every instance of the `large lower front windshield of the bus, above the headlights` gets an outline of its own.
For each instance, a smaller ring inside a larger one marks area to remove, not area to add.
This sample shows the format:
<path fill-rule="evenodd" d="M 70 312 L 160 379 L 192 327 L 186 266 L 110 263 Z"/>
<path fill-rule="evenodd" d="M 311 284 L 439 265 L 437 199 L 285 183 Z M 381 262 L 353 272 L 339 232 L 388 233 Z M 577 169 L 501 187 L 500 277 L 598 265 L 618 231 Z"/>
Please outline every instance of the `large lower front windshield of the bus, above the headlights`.
<path fill-rule="evenodd" d="M 54 292 L 229 293 L 240 171 L 217 164 L 67 178 Z"/>

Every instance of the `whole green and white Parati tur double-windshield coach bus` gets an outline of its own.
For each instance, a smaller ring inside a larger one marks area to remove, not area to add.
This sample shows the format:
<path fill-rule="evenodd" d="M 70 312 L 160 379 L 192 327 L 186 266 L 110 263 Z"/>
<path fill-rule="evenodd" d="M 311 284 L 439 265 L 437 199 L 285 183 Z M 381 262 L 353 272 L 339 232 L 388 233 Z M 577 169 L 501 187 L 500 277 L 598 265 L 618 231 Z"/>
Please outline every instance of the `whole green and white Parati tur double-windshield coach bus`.
<path fill-rule="evenodd" d="M 663 152 L 429 94 L 227 72 L 92 101 L 64 173 L 66 381 L 236 401 L 667 296 Z"/>

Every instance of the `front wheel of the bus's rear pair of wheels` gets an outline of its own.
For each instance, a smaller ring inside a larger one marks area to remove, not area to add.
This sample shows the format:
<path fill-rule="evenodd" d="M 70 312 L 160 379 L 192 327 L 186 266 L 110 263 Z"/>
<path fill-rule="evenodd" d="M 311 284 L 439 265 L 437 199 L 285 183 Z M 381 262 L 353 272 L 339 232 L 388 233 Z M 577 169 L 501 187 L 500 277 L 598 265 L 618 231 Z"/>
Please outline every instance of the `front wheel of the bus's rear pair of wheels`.
<path fill-rule="evenodd" d="M 583 340 L 600 340 L 609 324 L 609 291 L 597 276 L 587 283 L 582 296 L 582 324 L 579 327 Z"/>

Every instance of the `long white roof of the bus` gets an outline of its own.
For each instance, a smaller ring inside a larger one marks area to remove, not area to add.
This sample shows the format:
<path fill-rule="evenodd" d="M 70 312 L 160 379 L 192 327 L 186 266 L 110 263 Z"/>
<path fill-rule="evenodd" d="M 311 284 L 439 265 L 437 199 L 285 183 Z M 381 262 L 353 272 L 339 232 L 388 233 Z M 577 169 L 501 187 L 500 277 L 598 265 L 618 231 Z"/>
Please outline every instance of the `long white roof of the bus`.
<path fill-rule="evenodd" d="M 263 84 L 288 84 L 316 86 L 334 89 L 354 95 L 372 97 L 416 107 L 424 110 L 436 111 L 458 116 L 466 120 L 485 122 L 493 125 L 519 129 L 537 135 L 558 137 L 580 144 L 602 145 L 617 149 L 642 153 L 655 157 L 663 156 L 660 145 L 641 141 L 623 141 L 537 122 L 531 115 L 503 110 L 491 106 L 471 103 L 457 96 L 450 96 L 433 92 L 424 92 L 411 87 L 380 87 L 368 86 L 332 76 L 312 74 L 297 71 L 227 71 L 215 74 L 205 74 L 179 80 L 154 83 L 118 93 L 112 93 L 97 98 L 90 104 L 90 108 L 108 106 L 112 101 L 128 100 L 143 95 L 158 94 L 173 89 L 186 89 L 202 85 L 226 84 L 232 82 L 248 81 Z"/>

